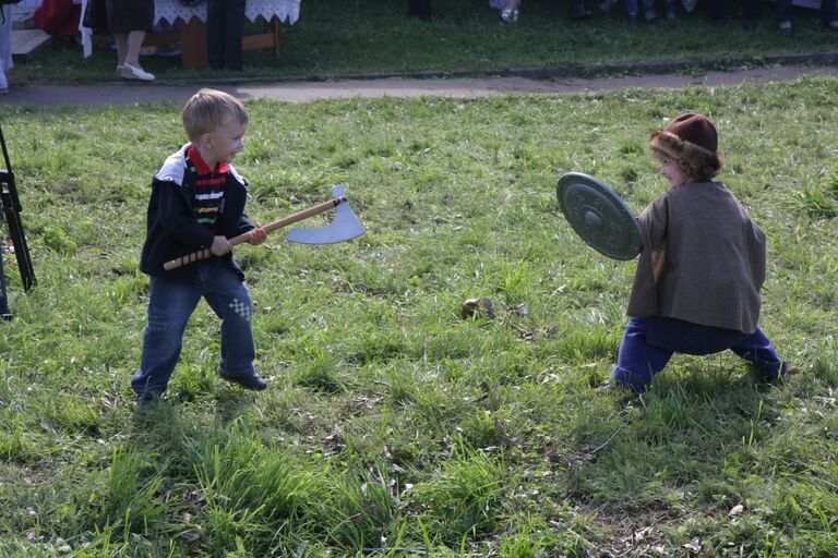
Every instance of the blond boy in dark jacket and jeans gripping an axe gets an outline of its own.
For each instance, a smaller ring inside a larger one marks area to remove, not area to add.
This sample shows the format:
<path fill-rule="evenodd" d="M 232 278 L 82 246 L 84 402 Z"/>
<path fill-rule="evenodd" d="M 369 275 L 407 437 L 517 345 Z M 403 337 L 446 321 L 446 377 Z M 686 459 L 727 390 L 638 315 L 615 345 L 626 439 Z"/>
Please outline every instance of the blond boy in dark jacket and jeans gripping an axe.
<path fill-rule="evenodd" d="M 267 387 L 253 367 L 253 303 L 228 240 L 247 233 L 250 244 L 261 244 L 266 236 L 244 215 L 247 181 L 230 166 L 243 148 L 248 112 L 226 93 L 201 89 L 187 102 L 182 118 L 190 143 L 154 175 L 140 259 L 140 269 L 151 276 L 140 369 L 131 378 L 141 402 L 166 390 L 187 322 L 202 296 L 222 318 L 220 376 L 244 389 Z M 200 248 L 217 257 L 164 268 Z"/>

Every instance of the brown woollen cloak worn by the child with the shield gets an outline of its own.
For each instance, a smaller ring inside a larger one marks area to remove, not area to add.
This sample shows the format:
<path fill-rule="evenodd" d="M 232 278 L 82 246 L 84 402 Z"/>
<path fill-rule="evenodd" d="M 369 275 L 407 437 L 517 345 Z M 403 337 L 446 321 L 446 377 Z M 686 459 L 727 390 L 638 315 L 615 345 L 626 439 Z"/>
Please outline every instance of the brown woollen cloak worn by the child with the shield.
<path fill-rule="evenodd" d="M 643 251 L 627 314 L 753 332 L 765 233 L 721 182 L 692 182 L 641 214 Z"/>

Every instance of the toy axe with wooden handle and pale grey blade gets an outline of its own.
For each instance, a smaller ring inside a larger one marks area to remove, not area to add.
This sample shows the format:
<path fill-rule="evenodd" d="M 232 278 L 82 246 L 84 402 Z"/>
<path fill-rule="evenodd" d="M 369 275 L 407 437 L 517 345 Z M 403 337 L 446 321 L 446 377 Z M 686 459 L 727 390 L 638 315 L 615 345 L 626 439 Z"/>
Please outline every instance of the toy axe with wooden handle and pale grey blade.
<path fill-rule="evenodd" d="M 349 199 L 347 199 L 344 189 L 340 186 L 333 186 L 332 195 L 334 198 L 330 199 L 328 202 L 323 202 L 322 204 L 318 204 L 314 207 L 309 207 L 308 209 L 303 209 L 300 213 L 288 216 L 285 219 L 279 219 L 278 221 L 265 225 L 263 229 L 265 229 L 266 233 L 273 232 L 277 229 L 282 229 L 283 227 L 288 227 L 289 225 L 292 225 L 297 221 L 301 221 L 318 214 L 322 214 L 328 209 L 336 208 L 335 218 L 331 223 L 314 229 L 291 229 L 288 231 L 288 234 L 285 235 L 285 239 L 291 242 L 299 242 L 301 244 L 334 244 L 336 242 L 346 242 L 348 240 L 352 240 L 367 232 L 361 222 L 349 208 Z M 243 234 L 239 234 L 238 236 L 234 236 L 230 239 L 230 244 L 235 246 L 237 244 L 241 244 L 242 242 L 247 242 L 249 235 L 250 232 L 246 232 Z M 192 262 L 206 259 L 211 255 L 212 252 L 210 248 L 202 248 L 192 254 L 180 256 L 179 258 L 172 259 L 171 262 L 166 262 L 163 265 L 163 268 L 169 271 L 171 269 L 177 269 L 180 266 L 191 264 Z"/>

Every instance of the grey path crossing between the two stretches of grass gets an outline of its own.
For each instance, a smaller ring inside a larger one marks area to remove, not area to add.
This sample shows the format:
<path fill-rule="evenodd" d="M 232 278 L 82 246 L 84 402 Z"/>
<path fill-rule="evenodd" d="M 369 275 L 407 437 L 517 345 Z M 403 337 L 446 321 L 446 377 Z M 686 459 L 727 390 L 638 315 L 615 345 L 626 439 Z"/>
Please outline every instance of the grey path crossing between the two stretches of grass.
<path fill-rule="evenodd" d="M 320 99 L 351 97 L 419 97 L 438 96 L 470 98 L 508 94 L 563 94 L 611 90 L 632 87 L 680 88 L 691 85 L 734 85 L 745 82 L 768 83 L 794 80 L 804 75 L 838 76 L 838 68 L 777 66 L 731 72 L 707 72 L 702 75 L 642 75 L 598 78 L 531 80 L 526 77 L 477 78 L 381 78 L 335 82 L 282 82 L 275 84 L 212 84 L 157 85 L 115 82 L 93 86 L 12 85 L 0 102 L 35 106 L 103 106 L 184 102 L 201 87 L 216 87 L 242 99 L 273 99 L 308 102 Z"/>

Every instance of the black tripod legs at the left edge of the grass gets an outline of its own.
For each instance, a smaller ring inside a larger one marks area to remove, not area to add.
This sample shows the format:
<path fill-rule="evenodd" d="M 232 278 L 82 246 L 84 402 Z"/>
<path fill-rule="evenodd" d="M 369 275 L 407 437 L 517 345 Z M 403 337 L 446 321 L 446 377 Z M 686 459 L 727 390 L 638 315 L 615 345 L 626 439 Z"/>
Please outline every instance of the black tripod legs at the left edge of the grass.
<path fill-rule="evenodd" d="M 21 201 L 17 197 L 17 187 L 14 183 L 14 172 L 12 172 L 12 162 L 9 160 L 9 150 L 5 148 L 5 137 L 3 129 L 0 126 L 0 146 L 3 149 L 3 160 L 5 170 L 0 170 L 0 207 L 3 219 L 9 225 L 9 236 L 12 239 L 14 256 L 17 259 L 17 268 L 21 270 L 21 280 L 23 289 L 28 291 L 35 284 L 35 270 L 32 268 L 32 258 L 29 257 L 29 247 L 26 245 L 26 235 L 23 232 L 23 222 L 21 222 Z M 3 270 L 3 242 L 0 239 L 0 315 L 3 319 L 11 319 L 12 314 L 9 311 L 9 299 L 5 294 L 5 272 Z"/>

